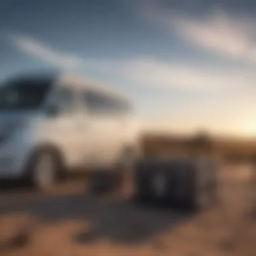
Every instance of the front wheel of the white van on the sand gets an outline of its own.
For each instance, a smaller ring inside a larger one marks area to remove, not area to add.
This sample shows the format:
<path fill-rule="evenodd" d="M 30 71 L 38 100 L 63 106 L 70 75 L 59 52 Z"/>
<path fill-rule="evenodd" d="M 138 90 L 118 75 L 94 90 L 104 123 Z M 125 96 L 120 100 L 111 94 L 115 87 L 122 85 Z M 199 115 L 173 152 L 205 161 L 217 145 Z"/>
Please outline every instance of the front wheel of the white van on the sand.
<path fill-rule="evenodd" d="M 60 162 L 51 149 L 37 150 L 30 159 L 28 179 L 39 191 L 48 191 L 57 182 Z"/>

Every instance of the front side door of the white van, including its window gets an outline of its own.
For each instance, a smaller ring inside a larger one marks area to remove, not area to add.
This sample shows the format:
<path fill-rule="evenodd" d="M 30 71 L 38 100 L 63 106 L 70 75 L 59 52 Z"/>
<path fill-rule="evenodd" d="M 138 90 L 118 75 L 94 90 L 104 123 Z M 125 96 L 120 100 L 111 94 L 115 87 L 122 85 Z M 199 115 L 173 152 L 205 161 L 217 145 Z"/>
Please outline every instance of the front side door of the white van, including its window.
<path fill-rule="evenodd" d="M 82 158 L 79 150 L 82 130 L 77 97 L 75 90 L 68 86 L 58 86 L 48 102 L 48 106 L 57 111 L 55 115 L 48 117 L 42 127 L 44 139 L 59 147 L 71 168 L 79 165 Z"/>

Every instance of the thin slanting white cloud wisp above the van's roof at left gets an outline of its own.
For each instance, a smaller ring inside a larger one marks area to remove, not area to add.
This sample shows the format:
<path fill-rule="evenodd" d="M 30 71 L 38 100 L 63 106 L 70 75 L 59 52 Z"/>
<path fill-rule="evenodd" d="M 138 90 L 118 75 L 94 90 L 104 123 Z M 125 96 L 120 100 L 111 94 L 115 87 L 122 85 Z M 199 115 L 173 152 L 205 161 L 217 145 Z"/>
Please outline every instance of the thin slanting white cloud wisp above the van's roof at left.
<path fill-rule="evenodd" d="M 20 51 L 41 59 L 49 65 L 62 69 L 75 69 L 82 65 L 82 59 L 79 57 L 56 51 L 34 38 L 17 34 L 13 34 L 9 38 Z"/>

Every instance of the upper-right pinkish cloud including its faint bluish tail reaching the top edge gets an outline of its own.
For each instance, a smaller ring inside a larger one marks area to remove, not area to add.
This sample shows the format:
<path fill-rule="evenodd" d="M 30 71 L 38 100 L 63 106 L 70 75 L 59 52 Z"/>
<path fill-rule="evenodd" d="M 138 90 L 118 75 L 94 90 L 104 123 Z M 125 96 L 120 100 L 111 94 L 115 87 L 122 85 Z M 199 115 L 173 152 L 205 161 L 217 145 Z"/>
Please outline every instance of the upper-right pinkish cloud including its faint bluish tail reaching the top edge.
<path fill-rule="evenodd" d="M 195 18 L 183 12 L 160 7 L 154 0 L 139 0 L 137 13 L 171 36 L 232 59 L 256 63 L 256 20 L 228 15 L 214 9 L 210 15 Z"/>

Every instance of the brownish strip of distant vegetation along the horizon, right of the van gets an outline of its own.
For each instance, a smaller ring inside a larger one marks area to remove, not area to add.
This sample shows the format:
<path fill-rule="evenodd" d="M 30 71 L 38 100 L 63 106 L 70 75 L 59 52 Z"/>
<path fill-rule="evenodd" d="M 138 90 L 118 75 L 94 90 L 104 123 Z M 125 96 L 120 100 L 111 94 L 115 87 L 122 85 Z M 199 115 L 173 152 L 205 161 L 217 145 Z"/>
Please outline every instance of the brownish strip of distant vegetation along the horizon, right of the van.
<path fill-rule="evenodd" d="M 256 141 L 232 137 L 213 137 L 200 131 L 193 136 L 143 134 L 141 145 L 146 155 L 216 156 L 225 161 L 256 161 Z"/>

